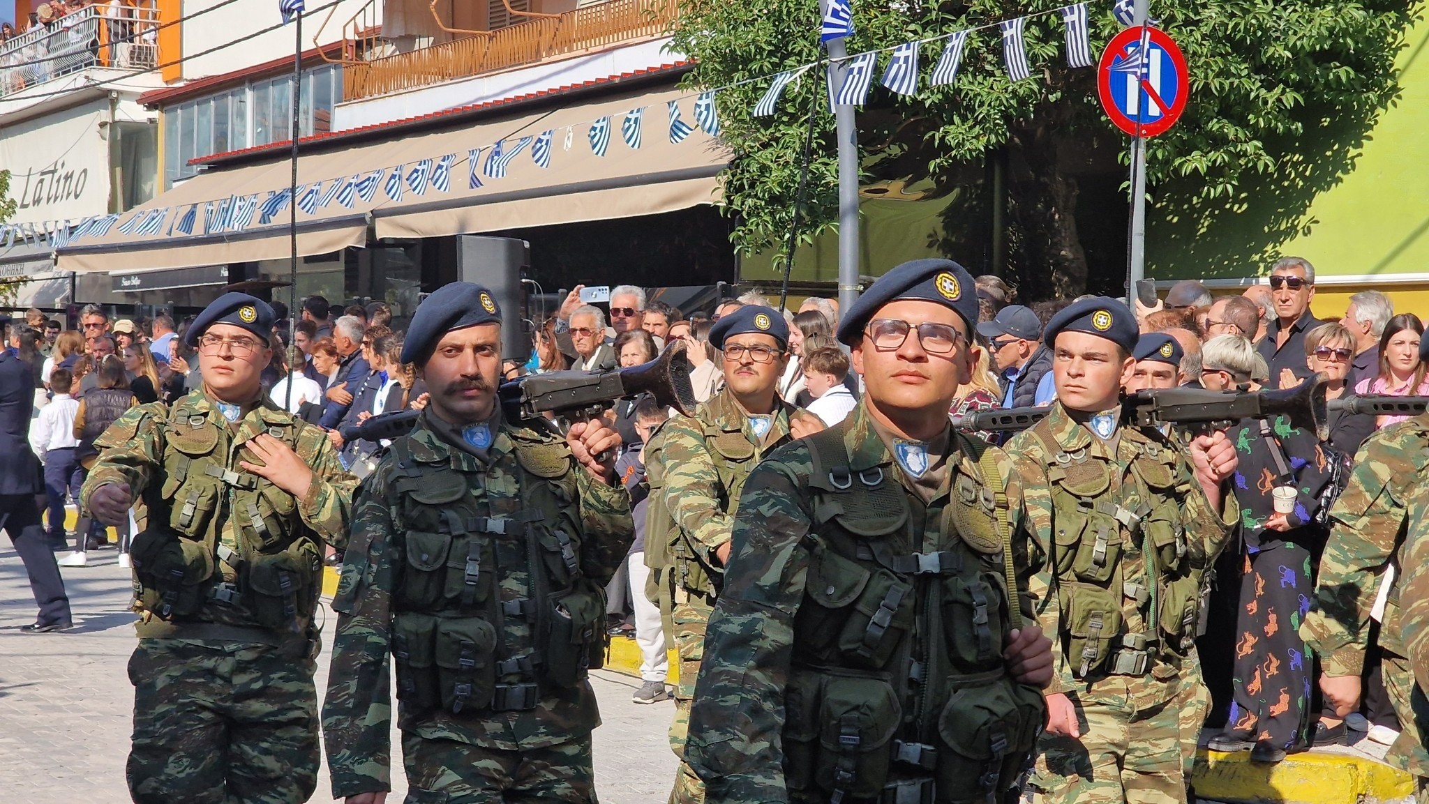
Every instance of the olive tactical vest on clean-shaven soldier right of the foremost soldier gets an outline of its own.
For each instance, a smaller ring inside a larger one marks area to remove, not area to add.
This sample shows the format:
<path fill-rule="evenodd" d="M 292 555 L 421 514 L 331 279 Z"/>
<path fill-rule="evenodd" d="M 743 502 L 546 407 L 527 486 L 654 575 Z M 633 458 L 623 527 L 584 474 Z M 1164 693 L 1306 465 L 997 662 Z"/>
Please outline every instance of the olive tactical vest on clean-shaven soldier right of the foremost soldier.
<path fill-rule="evenodd" d="M 1169 441 L 1125 440 L 1136 457 L 1132 481 L 1087 450 L 1066 453 L 1047 420 L 1032 433 L 1052 457 L 1050 541 L 1066 655 L 1077 678 L 1145 675 L 1153 658 L 1179 663 L 1195 645 L 1205 544 L 1186 537 L 1182 504 L 1195 491 L 1182 478 Z M 1126 556 L 1140 554 L 1145 574 L 1129 578 Z M 1123 605 L 1135 604 L 1145 631 L 1129 633 Z"/>

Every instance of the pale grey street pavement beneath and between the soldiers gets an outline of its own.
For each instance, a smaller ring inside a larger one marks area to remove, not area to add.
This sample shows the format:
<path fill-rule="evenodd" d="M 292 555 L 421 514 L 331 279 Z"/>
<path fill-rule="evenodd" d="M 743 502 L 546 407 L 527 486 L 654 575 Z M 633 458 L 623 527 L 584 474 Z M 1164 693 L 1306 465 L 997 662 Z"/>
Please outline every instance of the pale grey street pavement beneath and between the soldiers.
<path fill-rule="evenodd" d="M 134 648 L 129 570 L 116 550 L 90 553 L 89 567 L 64 568 L 77 627 L 63 634 L 21 634 L 34 621 L 24 567 L 9 540 L 0 547 L 0 801 L 121 804 L 133 687 L 126 663 Z M 326 610 L 324 610 L 326 611 Z M 327 611 L 327 633 L 336 618 Z M 329 643 L 319 660 L 317 691 L 327 683 Z M 602 804 L 664 801 L 676 761 L 666 741 L 673 704 L 639 705 L 639 680 L 596 671 L 592 677 L 604 725 L 596 730 L 596 790 Z M 389 804 L 406 794 L 400 741 Z M 313 801 L 332 801 L 327 767 Z"/>

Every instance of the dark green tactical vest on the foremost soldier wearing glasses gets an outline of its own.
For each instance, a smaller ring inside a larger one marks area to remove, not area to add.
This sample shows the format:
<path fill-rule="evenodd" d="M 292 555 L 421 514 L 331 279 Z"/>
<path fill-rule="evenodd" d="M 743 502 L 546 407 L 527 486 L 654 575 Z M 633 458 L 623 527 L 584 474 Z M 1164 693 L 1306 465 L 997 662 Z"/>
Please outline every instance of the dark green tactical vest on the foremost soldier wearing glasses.
<path fill-rule="evenodd" d="M 956 436 L 979 468 L 950 467 L 949 503 L 923 511 L 892 473 L 849 466 L 845 430 L 806 438 L 813 526 L 785 695 L 790 800 L 995 804 L 1045 718 L 1040 690 L 1002 658 L 1022 613 L 996 463 Z M 913 551 L 939 534 L 943 550 Z"/>

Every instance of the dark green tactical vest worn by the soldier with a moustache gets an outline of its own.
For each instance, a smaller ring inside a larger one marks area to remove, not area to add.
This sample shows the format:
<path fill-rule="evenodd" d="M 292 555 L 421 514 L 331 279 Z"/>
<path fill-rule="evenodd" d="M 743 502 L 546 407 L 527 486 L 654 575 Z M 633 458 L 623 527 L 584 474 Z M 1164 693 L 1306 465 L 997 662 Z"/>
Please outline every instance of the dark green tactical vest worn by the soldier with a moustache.
<path fill-rule="evenodd" d="M 579 470 L 563 441 L 513 440 L 522 506 L 504 517 L 490 511 L 490 470 L 477 480 L 410 437 L 392 443 L 392 653 L 412 713 L 536 708 L 543 687 L 576 687 L 604 660 L 604 590 L 580 566 Z M 516 566 L 532 596 L 503 601 L 502 570 Z"/>

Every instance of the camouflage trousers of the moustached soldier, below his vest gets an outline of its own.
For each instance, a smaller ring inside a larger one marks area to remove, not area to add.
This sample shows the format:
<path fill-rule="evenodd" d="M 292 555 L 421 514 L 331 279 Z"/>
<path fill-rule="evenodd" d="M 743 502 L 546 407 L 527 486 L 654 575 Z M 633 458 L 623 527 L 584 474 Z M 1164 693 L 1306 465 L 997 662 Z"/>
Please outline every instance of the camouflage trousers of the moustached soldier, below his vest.
<path fill-rule="evenodd" d="M 590 734 L 503 751 L 402 733 L 406 804 L 596 804 Z"/>

